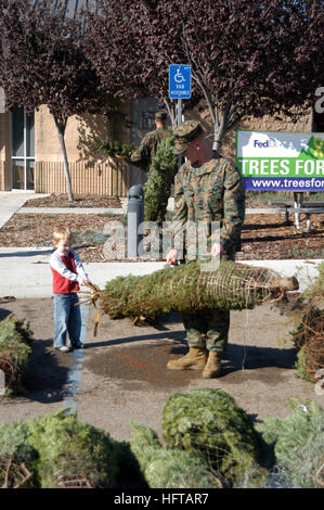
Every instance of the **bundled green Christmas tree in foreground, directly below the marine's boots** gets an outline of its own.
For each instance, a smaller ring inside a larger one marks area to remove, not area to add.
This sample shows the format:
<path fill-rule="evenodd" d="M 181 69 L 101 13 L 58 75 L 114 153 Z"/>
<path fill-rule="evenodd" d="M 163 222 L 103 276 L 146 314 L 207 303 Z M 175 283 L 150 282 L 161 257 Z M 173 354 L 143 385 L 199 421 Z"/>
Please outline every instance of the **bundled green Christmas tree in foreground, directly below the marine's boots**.
<path fill-rule="evenodd" d="M 261 486 L 267 472 L 258 464 L 259 439 L 247 413 L 225 392 L 193 390 L 172 395 L 163 412 L 168 448 L 199 456 L 230 486 L 249 480 Z"/>

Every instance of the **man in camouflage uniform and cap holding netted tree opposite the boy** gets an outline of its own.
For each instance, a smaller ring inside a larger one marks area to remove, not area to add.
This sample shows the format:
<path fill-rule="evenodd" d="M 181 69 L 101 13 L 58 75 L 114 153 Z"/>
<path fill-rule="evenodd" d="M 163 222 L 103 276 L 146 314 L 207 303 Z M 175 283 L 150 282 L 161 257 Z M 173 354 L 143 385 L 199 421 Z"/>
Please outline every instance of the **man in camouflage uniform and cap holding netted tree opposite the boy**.
<path fill-rule="evenodd" d="M 176 128 L 173 135 L 176 137 L 174 152 L 182 154 L 189 150 L 193 140 L 204 136 L 204 131 L 198 123 L 187 120 Z M 235 259 L 235 246 L 239 241 L 245 216 L 245 188 L 242 176 L 231 160 L 212 152 L 211 158 L 200 166 L 190 161 L 183 164 L 174 180 L 174 209 L 177 230 L 187 221 L 207 224 L 209 253 L 210 225 L 212 221 L 220 221 L 219 242 L 223 248 L 221 256 Z M 186 239 L 186 255 L 191 251 L 190 243 L 191 240 Z M 194 240 L 195 243 L 196 240 Z M 215 352 L 221 355 L 228 343 L 230 311 L 202 310 L 183 314 L 182 318 L 190 348 L 207 347 L 209 353 Z M 177 368 L 177 366 L 168 364 L 168 368 Z"/>

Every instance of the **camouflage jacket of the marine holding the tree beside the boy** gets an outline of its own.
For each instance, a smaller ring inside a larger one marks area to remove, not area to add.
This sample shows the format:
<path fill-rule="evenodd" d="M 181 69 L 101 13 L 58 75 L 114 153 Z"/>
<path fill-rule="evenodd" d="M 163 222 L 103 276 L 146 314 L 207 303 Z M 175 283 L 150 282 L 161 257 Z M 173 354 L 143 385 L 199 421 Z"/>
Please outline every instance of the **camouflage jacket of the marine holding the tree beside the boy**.
<path fill-rule="evenodd" d="M 245 217 L 245 188 L 242 176 L 231 160 L 215 153 L 199 167 L 190 162 L 181 166 L 174 180 L 176 231 L 186 221 L 220 221 L 220 243 L 226 254 L 235 253 Z"/>

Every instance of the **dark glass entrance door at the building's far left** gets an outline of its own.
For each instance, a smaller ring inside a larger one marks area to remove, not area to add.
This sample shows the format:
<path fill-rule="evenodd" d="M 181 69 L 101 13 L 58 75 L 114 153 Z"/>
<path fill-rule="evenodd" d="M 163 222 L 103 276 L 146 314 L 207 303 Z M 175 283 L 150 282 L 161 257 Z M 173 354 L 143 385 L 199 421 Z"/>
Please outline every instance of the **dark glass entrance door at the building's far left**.
<path fill-rule="evenodd" d="M 13 190 L 35 189 L 34 114 L 24 109 L 11 113 L 11 169 Z"/>

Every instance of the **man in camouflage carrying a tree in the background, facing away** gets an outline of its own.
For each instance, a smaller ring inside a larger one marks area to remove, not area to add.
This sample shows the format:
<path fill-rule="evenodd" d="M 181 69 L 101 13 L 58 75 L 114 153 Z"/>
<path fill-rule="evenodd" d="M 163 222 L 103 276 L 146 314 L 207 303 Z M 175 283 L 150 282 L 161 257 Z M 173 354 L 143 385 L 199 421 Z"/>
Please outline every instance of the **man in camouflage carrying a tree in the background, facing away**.
<path fill-rule="evenodd" d="M 146 173 L 150 171 L 159 142 L 171 135 L 171 130 L 166 127 L 166 112 L 156 112 L 154 119 L 157 126 L 156 129 L 145 135 L 140 146 L 131 154 L 129 160 L 131 164 L 141 167 Z"/>

